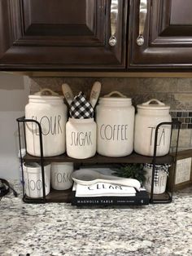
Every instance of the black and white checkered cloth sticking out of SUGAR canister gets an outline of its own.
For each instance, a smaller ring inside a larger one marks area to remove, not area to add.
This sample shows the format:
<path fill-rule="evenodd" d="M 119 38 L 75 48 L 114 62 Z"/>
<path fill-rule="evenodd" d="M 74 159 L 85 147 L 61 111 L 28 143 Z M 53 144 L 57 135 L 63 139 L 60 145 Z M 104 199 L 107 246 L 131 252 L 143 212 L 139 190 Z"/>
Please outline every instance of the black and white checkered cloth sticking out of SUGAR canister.
<path fill-rule="evenodd" d="M 72 103 L 69 106 L 69 113 L 72 118 L 93 118 L 94 108 L 89 104 L 89 101 L 85 99 L 85 95 L 80 92 L 72 100 Z"/>

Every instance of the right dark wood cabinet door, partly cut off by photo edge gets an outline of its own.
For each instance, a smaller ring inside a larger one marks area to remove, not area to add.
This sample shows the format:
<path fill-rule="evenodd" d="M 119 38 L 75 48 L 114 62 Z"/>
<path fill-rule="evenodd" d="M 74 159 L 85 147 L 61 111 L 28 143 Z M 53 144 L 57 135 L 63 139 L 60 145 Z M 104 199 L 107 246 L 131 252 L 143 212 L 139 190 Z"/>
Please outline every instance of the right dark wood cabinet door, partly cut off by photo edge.
<path fill-rule="evenodd" d="M 145 2 L 145 1 L 144 1 Z M 142 46 L 137 45 L 140 4 L 130 1 L 129 68 L 187 70 L 192 67 L 192 1 L 147 0 Z M 143 10 L 142 10 L 143 11 Z"/>

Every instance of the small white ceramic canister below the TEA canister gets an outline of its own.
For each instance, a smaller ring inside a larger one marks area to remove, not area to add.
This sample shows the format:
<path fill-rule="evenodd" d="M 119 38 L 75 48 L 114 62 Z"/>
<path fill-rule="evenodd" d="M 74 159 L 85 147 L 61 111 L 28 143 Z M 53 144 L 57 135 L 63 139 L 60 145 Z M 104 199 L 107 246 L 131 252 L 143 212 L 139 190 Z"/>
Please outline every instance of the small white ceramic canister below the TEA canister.
<path fill-rule="evenodd" d="M 156 166 L 158 168 L 158 166 Z M 151 193 L 151 183 L 152 183 L 152 170 L 153 167 L 143 167 L 143 170 L 146 171 L 145 181 L 143 183 L 146 188 L 146 192 Z M 164 170 L 158 171 L 158 183 L 154 183 L 153 193 L 154 194 L 162 194 L 165 192 L 168 174 Z"/>

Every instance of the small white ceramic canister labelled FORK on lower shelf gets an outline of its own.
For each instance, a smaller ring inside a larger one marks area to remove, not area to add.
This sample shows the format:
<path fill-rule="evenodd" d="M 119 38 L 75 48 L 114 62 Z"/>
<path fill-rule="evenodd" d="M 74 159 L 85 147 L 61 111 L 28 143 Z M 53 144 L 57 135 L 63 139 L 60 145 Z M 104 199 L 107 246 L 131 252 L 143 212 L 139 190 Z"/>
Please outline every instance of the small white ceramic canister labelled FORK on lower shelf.
<path fill-rule="evenodd" d="M 72 187 L 72 162 L 53 162 L 50 170 L 51 187 L 56 190 L 65 190 Z"/>

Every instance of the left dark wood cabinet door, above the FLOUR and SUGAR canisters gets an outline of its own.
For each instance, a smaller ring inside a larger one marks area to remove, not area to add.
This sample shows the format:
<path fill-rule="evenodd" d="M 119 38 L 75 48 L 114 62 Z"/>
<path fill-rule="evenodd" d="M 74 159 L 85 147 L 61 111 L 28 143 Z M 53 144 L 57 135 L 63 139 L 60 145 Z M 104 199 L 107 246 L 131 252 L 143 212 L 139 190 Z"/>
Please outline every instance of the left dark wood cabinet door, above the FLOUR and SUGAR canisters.
<path fill-rule="evenodd" d="M 127 7 L 127 0 L 0 0 L 0 69 L 124 69 Z"/>

